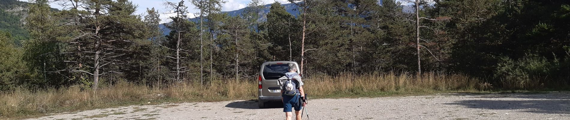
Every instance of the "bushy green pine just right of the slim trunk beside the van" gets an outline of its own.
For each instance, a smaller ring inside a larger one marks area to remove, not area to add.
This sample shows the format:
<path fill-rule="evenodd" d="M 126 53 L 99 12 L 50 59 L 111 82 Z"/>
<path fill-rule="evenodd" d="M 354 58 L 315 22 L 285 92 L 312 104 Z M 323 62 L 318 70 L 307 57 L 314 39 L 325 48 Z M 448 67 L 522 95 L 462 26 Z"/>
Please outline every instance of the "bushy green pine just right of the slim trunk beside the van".
<path fill-rule="evenodd" d="M 303 63 L 311 62 L 307 64 L 307 69 L 314 72 L 336 75 L 353 69 L 350 24 L 345 22 L 344 16 L 337 13 L 336 6 L 335 1 L 324 1 L 307 13 L 311 19 L 307 19 L 310 24 L 306 27 L 307 40 L 304 46 L 318 49 L 310 52 L 310 55 L 303 55 L 302 59 L 306 57 Z M 304 51 L 307 50 L 310 49 Z"/>

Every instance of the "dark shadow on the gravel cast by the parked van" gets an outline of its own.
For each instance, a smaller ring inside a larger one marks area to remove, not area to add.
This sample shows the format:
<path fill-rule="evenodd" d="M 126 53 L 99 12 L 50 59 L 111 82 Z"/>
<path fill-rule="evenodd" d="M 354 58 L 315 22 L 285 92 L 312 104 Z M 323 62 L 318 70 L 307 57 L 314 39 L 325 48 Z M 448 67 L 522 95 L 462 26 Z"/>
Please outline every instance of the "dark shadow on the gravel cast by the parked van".
<path fill-rule="evenodd" d="M 265 102 L 266 107 L 263 109 L 283 108 L 283 102 Z M 238 109 L 259 109 L 257 101 L 235 101 L 227 104 L 226 107 Z"/>

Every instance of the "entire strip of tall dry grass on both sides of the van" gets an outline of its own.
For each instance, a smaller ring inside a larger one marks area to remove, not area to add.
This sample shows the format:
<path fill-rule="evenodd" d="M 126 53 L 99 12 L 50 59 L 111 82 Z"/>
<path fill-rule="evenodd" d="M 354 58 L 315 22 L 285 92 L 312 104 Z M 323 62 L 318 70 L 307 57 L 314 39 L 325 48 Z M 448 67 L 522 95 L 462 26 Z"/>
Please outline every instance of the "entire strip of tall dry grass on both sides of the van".
<path fill-rule="evenodd" d="M 465 75 L 426 73 L 420 79 L 408 73 L 386 73 L 336 77 L 313 76 L 304 80 L 310 97 L 379 97 L 386 93 L 433 93 L 477 91 L 489 85 Z M 28 118 L 47 113 L 88 110 L 163 102 L 206 102 L 257 98 L 257 79 L 235 81 L 220 78 L 205 85 L 180 82 L 166 87 L 149 87 L 127 82 L 105 86 L 97 93 L 72 86 L 30 92 L 15 90 L 0 94 L 0 118 Z"/>

